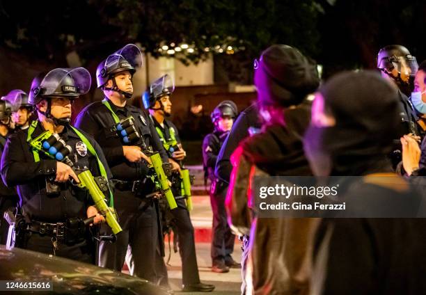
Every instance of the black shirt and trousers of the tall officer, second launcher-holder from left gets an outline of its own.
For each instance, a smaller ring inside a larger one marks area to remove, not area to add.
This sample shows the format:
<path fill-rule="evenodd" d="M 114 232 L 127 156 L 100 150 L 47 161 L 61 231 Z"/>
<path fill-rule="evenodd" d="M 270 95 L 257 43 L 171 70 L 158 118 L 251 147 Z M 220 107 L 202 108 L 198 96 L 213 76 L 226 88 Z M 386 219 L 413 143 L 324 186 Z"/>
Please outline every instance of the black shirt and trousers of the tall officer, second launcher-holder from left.
<path fill-rule="evenodd" d="M 157 131 L 146 113 L 129 104 L 118 107 L 109 99 L 106 101 L 120 120 L 132 115 L 145 145 L 152 146 L 152 150 L 160 152 L 161 159 L 167 161 Z M 164 246 L 157 203 L 145 198 L 145 195 L 154 189 L 153 186 L 144 183 L 149 170 L 148 165 L 145 161 L 139 163 L 127 161 L 123 154 L 121 138 L 112 129 L 116 125 L 113 115 L 102 102 L 93 102 L 86 106 L 77 116 L 75 125 L 92 134 L 102 146 L 113 175 L 114 204 L 123 228 L 123 232 L 117 236 L 116 243 L 101 242 L 100 266 L 121 271 L 129 246 L 132 253 L 132 265 L 129 267 L 132 273 L 151 282 L 157 282 L 158 276 L 155 271 L 157 249 Z"/>

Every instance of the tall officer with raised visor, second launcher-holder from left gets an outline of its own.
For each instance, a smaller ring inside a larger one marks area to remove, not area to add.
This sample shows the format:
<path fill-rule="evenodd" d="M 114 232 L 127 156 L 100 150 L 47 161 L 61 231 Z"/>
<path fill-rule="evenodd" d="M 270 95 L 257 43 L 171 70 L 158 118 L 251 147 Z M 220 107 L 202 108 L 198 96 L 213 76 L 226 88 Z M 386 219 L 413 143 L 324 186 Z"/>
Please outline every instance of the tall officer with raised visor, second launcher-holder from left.
<path fill-rule="evenodd" d="M 157 202 L 145 198 L 154 191 L 147 177 L 150 161 L 147 151 L 152 147 L 160 152 L 163 161 L 168 159 L 148 114 L 127 103 L 133 95 L 133 74 L 141 65 L 141 51 L 132 44 L 102 61 L 96 79 L 105 98 L 86 106 L 77 116 L 76 125 L 93 134 L 104 150 L 113 174 L 115 208 L 123 228 L 116 243 L 101 242 L 100 266 L 121 271 L 129 246 L 130 273 L 157 283 L 160 276 L 155 271 L 155 257 L 157 248 L 163 248 L 163 241 Z M 117 125 L 123 120 L 133 122 L 137 133 L 132 131 L 132 136 L 139 135 L 136 141 L 126 140 L 117 132 Z"/>

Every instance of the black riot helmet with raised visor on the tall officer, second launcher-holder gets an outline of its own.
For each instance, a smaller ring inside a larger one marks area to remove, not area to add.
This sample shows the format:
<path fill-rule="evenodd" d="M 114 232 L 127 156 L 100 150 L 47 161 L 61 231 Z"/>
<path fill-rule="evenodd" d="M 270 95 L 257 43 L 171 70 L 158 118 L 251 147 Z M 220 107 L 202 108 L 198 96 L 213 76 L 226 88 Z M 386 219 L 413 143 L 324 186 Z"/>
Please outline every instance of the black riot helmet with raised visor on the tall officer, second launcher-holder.
<path fill-rule="evenodd" d="M 141 50 L 134 44 L 127 44 L 125 47 L 118 49 L 116 52 L 109 55 L 97 66 L 97 88 L 102 88 L 102 90 L 113 90 L 125 95 L 126 98 L 130 98 L 132 97 L 133 93 L 120 90 L 117 86 L 115 75 L 118 72 L 127 70 L 133 76 L 136 70 L 141 66 Z M 109 79 L 113 81 L 113 86 L 111 88 L 105 87 L 105 84 Z"/>

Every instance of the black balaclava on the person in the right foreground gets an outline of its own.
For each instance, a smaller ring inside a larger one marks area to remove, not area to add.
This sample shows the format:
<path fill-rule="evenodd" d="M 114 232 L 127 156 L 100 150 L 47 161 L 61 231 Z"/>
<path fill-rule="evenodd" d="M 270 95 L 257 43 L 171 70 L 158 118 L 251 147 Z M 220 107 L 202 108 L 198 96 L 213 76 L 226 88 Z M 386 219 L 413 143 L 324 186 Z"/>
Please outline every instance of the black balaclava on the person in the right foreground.
<path fill-rule="evenodd" d="M 304 138 L 315 175 L 391 171 L 386 155 L 399 123 L 395 86 L 377 72 L 343 72 L 319 89 L 333 127 L 310 126 Z"/>

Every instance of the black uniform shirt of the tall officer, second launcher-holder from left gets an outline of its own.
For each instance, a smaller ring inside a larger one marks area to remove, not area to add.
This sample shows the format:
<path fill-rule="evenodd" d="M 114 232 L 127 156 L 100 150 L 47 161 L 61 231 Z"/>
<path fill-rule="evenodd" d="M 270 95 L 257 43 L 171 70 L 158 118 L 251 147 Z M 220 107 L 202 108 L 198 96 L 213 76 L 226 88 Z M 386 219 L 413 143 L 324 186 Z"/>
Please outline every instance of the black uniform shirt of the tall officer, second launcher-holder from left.
<path fill-rule="evenodd" d="M 117 108 L 112 102 L 110 105 L 120 119 L 132 115 L 145 145 L 152 146 L 154 151 L 161 154 L 161 159 L 167 161 L 166 152 L 147 113 L 129 104 L 126 104 L 124 108 Z M 114 179 L 141 180 L 148 173 L 148 166 L 144 162 L 131 163 L 125 158 L 123 142 L 112 129 L 116 123 L 111 112 L 102 102 L 93 102 L 86 106 L 77 116 L 75 125 L 91 134 L 100 144 Z"/>

